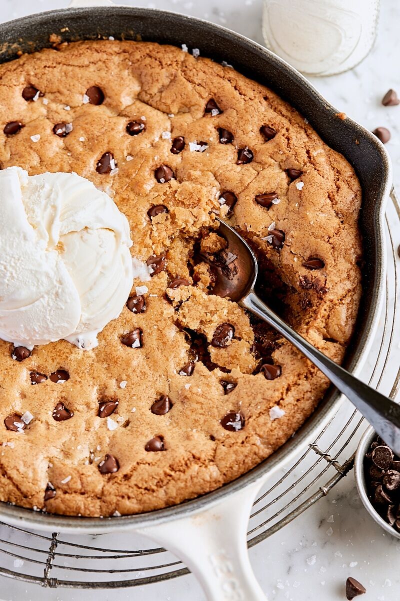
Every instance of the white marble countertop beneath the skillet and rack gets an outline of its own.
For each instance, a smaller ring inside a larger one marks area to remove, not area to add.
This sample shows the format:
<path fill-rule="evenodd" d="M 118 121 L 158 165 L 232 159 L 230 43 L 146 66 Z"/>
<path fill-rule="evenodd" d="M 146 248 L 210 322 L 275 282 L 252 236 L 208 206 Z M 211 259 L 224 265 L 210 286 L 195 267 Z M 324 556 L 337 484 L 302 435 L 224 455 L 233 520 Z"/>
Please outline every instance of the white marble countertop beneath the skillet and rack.
<path fill-rule="evenodd" d="M 9 20 L 32 12 L 63 8 L 67 4 L 68 0 L 2 0 L 0 19 Z M 209 19 L 262 43 L 261 0 L 125 0 L 125 4 L 169 8 Z M 397 0 L 385 0 L 377 41 L 365 61 L 351 72 L 312 79 L 318 90 L 339 111 L 344 111 L 368 129 L 389 127 L 392 139 L 387 150 L 392 156 L 394 182 L 398 189 L 400 106 L 385 108 L 381 105 L 381 98 L 389 88 L 395 88 L 400 94 L 399 26 L 400 4 Z M 398 243 L 400 231 L 395 232 L 395 237 Z M 398 364 L 396 357 L 394 361 Z M 255 574 L 270 600 L 339 601 L 345 599 L 344 582 L 349 575 L 359 579 L 367 588 L 366 596 L 361 597 L 366 601 L 397 601 L 400 597 L 400 542 L 385 535 L 369 518 L 357 496 L 352 473 L 296 520 L 252 548 L 250 556 Z M 7 601 L 204 599 L 191 575 L 134 590 L 85 593 L 65 589 L 44 590 L 0 578 L 0 597 Z"/>

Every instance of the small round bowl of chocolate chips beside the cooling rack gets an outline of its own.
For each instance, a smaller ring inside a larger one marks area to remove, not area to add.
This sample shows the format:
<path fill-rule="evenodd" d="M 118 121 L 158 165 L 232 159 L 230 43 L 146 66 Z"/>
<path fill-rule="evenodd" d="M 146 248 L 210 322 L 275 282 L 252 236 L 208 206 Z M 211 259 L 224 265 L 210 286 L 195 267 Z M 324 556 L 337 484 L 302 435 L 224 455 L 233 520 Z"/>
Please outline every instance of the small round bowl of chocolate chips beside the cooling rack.
<path fill-rule="evenodd" d="M 386 532 L 400 538 L 400 457 L 372 426 L 357 448 L 354 475 L 366 510 Z"/>

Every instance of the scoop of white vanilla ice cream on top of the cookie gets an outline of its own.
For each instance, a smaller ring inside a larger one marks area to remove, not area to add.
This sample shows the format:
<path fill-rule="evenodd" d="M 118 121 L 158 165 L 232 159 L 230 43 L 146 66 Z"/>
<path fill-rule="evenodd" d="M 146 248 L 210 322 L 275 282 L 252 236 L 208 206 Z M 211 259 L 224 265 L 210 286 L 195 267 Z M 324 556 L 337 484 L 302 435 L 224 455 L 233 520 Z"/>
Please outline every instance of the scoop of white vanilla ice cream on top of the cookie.
<path fill-rule="evenodd" d="M 125 215 L 85 178 L 0 171 L 0 338 L 97 346 L 131 291 L 131 246 Z"/>

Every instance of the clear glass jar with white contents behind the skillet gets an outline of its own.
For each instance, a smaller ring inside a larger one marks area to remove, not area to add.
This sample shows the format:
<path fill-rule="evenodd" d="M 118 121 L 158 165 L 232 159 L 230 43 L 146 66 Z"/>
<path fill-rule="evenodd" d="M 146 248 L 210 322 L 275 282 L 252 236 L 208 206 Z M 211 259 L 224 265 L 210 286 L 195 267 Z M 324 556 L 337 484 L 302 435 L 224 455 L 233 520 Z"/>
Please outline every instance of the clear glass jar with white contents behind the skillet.
<path fill-rule="evenodd" d="M 264 0 L 264 40 L 303 73 L 341 73 L 371 50 L 379 6 L 380 0 Z"/>

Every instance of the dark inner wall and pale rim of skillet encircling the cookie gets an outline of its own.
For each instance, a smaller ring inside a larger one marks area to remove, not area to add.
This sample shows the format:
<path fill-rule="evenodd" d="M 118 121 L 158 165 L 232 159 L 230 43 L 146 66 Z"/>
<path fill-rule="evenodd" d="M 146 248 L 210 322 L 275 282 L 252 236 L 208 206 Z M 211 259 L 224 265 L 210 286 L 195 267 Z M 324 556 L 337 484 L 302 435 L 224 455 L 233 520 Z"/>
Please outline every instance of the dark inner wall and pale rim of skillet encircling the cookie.
<path fill-rule="evenodd" d="M 49 23 L 52 23 L 52 26 Z M 59 30 L 64 27 L 68 27 L 68 31 L 60 32 Z M 215 61 L 227 60 L 243 75 L 272 88 L 305 115 L 321 138 L 330 147 L 342 153 L 355 169 L 363 188 L 360 228 L 364 239 L 368 240 L 368 245 L 364 245 L 362 302 L 356 329 L 344 362 L 350 371 L 356 371 L 372 342 L 372 334 L 383 302 L 386 273 L 383 219 L 392 182 L 392 165 L 389 156 L 381 142 L 371 132 L 350 118 L 345 120 L 338 118 L 336 115 L 339 111 L 330 105 L 308 80 L 260 44 L 219 25 L 169 11 L 132 7 L 70 8 L 2 23 L 0 62 L 17 58 L 18 49 L 33 52 L 45 46 L 50 47 L 49 34 L 51 33 L 59 34 L 62 40 L 75 41 L 95 39 L 99 35 L 101 38 L 113 35 L 116 39 L 121 39 L 121 31 L 124 31 L 127 32 L 125 39 L 137 39 L 142 27 L 145 27 L 148 32 L 148 35 L 140 35 L 143 40 L 157 40 L 175 46 L 185 43 L 190 49 L 198 47 L 202 56 L 209 56 Z M 181 38 L 174 35 L 176 31 L 185 31 L 185 33 L 182 33 Z M 13 40 L 19 41 L 15 44 Z M 34 42 L 23 40 L 34 40 Z M 143 528 L 167 519 L 184 517 L 189 512 L 211 507 L 228 494 L 242 489 L 263 477 L 266 472 L 274 471 L 284 461 L 288 461 L 298 453 L 300 447 L 312 442 L 315 433 L 325 426 L 338 410 L 340 400 L 338 392 L 330 388 L 315 412 L 296 435 L 272 456 L 231 483 L 192 501 L 149 513 L 113 519 L 58 516 L 2 503 L 0 516 L 5 522 L 19 526 L 24 522 L 42 529 L 74 532 L 104 532 L 126 529 L 128 526 Z"/>

